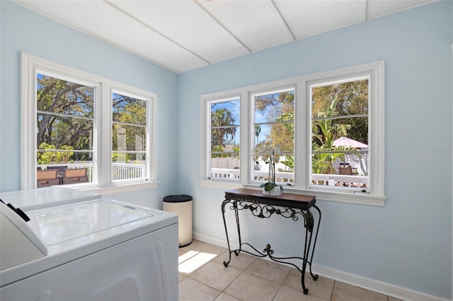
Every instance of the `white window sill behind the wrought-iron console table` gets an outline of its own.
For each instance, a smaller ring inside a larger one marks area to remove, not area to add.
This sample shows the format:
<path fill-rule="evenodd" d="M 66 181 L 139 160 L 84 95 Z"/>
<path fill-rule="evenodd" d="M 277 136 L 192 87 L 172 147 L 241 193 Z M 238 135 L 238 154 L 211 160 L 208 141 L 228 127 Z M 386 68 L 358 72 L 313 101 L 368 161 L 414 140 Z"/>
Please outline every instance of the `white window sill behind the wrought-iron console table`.
<path fill-rule="evenodd" d="M 201 187 L 217 189 L 237 189 L 248 188 L 260 190 L 258 185 L 243 184 L 241 182 L 221 181 L 221 180 L 200 180 Z M 361 205 L 381 206 L 385 204 L 385 196 L 372 196 L 369 194 L 338 192 L 338 191 L 321 191 L 316 189 L 297 189 L 294 187 L 283 187 L 284 191 L 290 194 L 305 194 L 316 196 L 318 201 L 338 201 L 342 203 L 358 203 Z"/>

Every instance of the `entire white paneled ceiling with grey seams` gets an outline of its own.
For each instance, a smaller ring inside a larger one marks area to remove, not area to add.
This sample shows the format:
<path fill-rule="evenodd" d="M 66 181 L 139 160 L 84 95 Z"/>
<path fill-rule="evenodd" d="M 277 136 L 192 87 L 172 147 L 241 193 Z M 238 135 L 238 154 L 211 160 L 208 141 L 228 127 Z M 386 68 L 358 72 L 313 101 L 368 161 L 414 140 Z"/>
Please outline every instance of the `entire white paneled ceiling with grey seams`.
<path fill-rule="evenodd" d="M 180 73 L 439 0 L 13 1 Z"/>

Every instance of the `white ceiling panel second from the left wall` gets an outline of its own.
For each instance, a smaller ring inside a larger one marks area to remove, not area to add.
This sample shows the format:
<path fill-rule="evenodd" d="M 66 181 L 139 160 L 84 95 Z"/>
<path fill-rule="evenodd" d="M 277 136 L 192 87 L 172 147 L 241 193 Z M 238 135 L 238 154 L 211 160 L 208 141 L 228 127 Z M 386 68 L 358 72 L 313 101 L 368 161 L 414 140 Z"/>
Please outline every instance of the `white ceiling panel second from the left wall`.
<path fill-rule="evenodd" d="M 111 3 L 209 62 L 248 53 L 240 42 L 193 1 Z"/>

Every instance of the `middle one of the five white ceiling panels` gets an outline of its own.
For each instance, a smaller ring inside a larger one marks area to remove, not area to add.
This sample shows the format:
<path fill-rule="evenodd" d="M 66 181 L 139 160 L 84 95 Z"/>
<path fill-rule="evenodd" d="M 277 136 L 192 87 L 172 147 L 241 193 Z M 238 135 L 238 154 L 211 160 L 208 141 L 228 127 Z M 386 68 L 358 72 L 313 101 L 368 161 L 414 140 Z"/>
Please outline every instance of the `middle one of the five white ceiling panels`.
<path fill-rule="evenodd" d="M 270 0 L 198 3 L 252 51 L 294 40 Z"/>

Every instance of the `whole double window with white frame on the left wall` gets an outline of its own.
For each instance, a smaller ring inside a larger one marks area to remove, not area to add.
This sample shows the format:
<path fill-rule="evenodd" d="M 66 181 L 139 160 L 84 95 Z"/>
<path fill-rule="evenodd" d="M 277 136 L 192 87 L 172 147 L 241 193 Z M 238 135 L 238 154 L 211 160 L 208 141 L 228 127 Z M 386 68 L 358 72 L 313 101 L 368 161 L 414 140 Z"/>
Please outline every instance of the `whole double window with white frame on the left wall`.
<path fill-rule="evenodd" d="M 22 189 L 152 182 L 156 95 L 28 54 L 22 59 Z"/>

